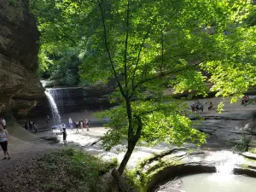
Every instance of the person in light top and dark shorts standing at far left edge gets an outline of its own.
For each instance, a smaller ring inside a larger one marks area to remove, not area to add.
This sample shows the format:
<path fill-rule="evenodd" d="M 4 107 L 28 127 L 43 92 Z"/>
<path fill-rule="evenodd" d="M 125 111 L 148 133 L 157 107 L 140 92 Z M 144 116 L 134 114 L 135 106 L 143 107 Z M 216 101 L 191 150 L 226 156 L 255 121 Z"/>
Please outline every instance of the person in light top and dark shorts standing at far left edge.
<path fill-rule="evenodd" d="M 6 120 L 4 118 L 0 118 L 0 145 L 3 149 L 3 160 L 10 160 L 9 152 L 8 152 L 8 131 L 6 130 Z"/>

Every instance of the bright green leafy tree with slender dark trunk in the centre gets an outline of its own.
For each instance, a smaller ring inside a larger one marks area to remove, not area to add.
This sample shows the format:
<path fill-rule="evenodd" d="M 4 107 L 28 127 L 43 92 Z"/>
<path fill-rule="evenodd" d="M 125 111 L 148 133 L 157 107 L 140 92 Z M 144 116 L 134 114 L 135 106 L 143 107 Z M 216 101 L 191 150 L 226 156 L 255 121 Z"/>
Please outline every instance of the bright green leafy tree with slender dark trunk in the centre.
<path fill-rule="evenodd" d="M 166 85 L 176 93 L 206 96 L 211 82 L 218 96 L 236 98 L 255 84 L 251 1 L 34 2 L 45 9 L 35 12 L 44 53 L 74 49 L 81 79 L 96 83 L 114 77 L 118 85 L 113 101 L 121 104 L 100 116 L 112 119 L 104 147 L 128 140 L 119 173 L 137 142 L 205 142 L 188 118 L 186 102 L 164 96 Z"/>

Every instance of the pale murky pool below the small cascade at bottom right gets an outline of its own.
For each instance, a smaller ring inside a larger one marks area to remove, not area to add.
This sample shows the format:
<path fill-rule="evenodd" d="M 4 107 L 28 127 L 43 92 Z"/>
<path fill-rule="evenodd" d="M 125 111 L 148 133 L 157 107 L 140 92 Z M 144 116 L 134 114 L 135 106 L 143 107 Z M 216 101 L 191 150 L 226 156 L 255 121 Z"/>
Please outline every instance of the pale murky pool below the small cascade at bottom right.
<path fill-rule="evenodd" d="M 158 192 L 255 192 L 256 178 L 222 173 L 178 177 L 160 186 Z"/>

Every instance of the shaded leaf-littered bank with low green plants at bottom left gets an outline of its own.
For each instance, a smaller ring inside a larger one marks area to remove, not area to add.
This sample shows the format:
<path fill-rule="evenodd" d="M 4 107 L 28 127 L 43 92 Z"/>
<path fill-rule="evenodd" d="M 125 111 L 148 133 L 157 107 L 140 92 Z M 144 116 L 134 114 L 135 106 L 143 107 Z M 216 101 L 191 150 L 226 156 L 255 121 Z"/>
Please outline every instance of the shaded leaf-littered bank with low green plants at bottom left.
<path fill-rule="evenodd" d="M 109 183 L 102 176 L 113 166 L 73 149 L 21 154 L 19 160 L 0 164 L 0 191 L 104 192 Z"/>

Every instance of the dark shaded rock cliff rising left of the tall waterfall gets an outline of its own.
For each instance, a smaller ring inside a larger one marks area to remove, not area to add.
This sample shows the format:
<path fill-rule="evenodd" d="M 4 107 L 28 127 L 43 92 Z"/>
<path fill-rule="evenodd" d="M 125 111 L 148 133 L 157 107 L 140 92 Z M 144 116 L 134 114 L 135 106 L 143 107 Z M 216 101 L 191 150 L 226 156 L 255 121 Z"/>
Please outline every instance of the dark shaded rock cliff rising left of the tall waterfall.
<path fill-rule="evenodd" d="M 39 33 L 29 0 L 0 0 L 0 113 L 25 115 L 44 100 L 39 82 Z"/>

